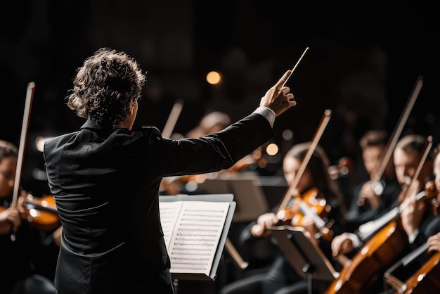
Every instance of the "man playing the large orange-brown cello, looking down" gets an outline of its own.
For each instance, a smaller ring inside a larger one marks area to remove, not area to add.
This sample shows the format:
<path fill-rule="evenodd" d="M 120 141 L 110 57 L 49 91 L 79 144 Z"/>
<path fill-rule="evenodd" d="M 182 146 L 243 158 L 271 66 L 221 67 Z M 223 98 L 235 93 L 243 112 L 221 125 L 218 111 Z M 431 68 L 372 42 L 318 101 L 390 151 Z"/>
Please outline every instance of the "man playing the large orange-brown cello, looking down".
<path fill-rule="evenodd" d="M 418 236 L 419 229 L 421 230 L 422 223 L 426 224 L 432 217 L 423 215 L 423 201 L 415 201 L 416 195 L 424 188 L 425 183 L 432 178 L 432 158 L 427 158 L 422 162 L 422 168 L 417 179 L 413 179 L 415 171 L 417 170 L 420 161 L 422 160 L 422 153 L 426 144 L 424 136 L 410 134 L 403 136 L 396 144 L 393 158 L 396 170 L 396 177 L 401 184 L 402 191 L 399 194 L 399 207 L 402 207 L 400 213 L 401 224 L 407 236 L 407 244 L 401 254 L 410 251 L 410 243 L 414 243 Z M 413 181 L 411 181 L 413 179 Z M 421 212 L 421 213 L 418 213 Z M 373 221 L 365 224 L 380 223 L 381 219 L 386 219 L 387 214 L 377 217 Z M 380 227 L 368 226 L 362 224 L 354 233 L 345 232 L 339 236 L 335 236 L 332 241 L 332 255 L 337 257 L 343 254 L 354 254 L 361 246 L 368 241 L 369 238 L 375 236 L 375 232 L 379 231 Z M 369 228 L 368 234 L 365 234 L 365 229 Z M 373 229 L 374 228 L 374 229 Z M 421 236 L 419 236 L 420 238 Z M 390 248 L 393 250 L 393 248 Z M 382 288 L 382 280 L 377 280 L 374 286 L 370 289 L 371 293 L 379 291 Z"/>

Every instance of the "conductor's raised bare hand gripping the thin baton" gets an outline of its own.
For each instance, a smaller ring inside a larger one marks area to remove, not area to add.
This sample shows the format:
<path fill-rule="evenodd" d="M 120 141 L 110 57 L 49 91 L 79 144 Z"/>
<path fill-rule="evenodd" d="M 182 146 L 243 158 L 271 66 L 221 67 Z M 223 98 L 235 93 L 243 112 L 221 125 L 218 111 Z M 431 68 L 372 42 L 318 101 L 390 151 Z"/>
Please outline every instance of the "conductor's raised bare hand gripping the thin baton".
<path fill-rule="evenodd" d="M 285 81 L 292 73 L 291 70 L 287 70 L 283 77 L 281 77 L 275 86 L 268 89 L 264 97 L 261 98 L 260 106 L 266 106 L 271 108 L 276 116 L 284 113 L 285 110 L 296 106 L 297 102 L 293 100 L 293 94 L 290 93 L 289 87 L 283 87 Z"/>

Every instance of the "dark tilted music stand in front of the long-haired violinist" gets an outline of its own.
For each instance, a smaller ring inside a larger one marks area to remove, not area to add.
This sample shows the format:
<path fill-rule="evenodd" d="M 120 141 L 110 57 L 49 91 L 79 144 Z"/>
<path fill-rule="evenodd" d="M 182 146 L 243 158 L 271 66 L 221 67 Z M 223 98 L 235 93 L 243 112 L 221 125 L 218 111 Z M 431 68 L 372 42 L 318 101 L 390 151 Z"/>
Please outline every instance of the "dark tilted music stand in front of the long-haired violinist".
<path fill-rule="evenodd" d="M 304 234 L 302 226 L 273 226 L 271 233 L 293 269 L 306 279 L 309 293 L 313 279 L 333 281 L 339 276 L 321 248 Z"/>

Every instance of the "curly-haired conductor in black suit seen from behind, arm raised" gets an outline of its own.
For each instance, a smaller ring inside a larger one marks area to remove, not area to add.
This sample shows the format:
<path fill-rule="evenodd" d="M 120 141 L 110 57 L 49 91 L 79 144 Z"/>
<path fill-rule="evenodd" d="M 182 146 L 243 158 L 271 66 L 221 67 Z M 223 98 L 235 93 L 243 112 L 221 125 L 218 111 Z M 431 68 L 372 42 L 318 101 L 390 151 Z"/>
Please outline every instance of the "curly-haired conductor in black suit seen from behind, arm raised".
<path fill-rule="evenodd" d="M 134 58 L 108 48 L 86 58 L 67 97 L 67 106 L 86 122 L 44 146 L 63 224 L 58 291 L 174 293 L 160 224 L 162 177 L 226 169 L 271 139 L 276 116 L 296 104 L 283 86 L 290 73 L 230 127 L 173 140 L 155 127 L 133 128 L 145 82 Z"/>

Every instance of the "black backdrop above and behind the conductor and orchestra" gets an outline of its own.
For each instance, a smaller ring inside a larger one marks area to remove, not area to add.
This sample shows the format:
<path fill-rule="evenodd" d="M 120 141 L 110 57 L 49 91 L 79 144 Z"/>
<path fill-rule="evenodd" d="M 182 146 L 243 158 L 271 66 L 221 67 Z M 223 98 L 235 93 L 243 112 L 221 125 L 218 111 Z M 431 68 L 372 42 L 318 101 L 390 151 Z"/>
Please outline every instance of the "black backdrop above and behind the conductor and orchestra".
<path fill-rule="evenodd" d="M 148 72 L 137 124 L 162 129 L 177 99 L 185 105 L 174 132 L 186 134 L 209 110 L 238 120 L 309 46 L 287 82 L 297 107 L 276 120 L 273 141 L 282 148 L 311 140 L 330 109 L 321 145 L 332 163 L 356 158 L 366 129 L 393 132 L 419 76 L 424 85 L 403 134 L 439 141 L 434 1 L 25 0 L 6 1 L 2 11 L 0 139 L 19 146 L 27 84 L 36 84 L 23 181 L 44 170 L 37 136 L 84 122 L 64 98 L 75 70 L 102 46 L 126 51 Z M 222 84 L 205 82 L 210 70 Z M 285 129 L 294 134 L 287 143 Z"/>

